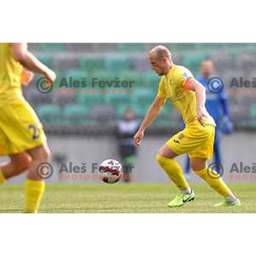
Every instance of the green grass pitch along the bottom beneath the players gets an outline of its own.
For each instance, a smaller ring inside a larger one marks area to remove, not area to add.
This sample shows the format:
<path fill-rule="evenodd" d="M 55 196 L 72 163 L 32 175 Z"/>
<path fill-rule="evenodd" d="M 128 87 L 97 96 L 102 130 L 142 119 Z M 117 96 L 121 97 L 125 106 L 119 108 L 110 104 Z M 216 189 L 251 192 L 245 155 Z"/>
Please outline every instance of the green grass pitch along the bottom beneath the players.
<path fill-rule="evenodd" d="M 177 194 L 173 184 L 47 184 L 41 213 L 240 213 L 256 212 L 255 184 L 231 184 L 241 207 L 213 207 L 222 198 L 204 183 L 192 184 L 195 201 L 179 208 L 166 205 Z M 0 212 L 22 212 L 23 185 L 0 186 Z"/>

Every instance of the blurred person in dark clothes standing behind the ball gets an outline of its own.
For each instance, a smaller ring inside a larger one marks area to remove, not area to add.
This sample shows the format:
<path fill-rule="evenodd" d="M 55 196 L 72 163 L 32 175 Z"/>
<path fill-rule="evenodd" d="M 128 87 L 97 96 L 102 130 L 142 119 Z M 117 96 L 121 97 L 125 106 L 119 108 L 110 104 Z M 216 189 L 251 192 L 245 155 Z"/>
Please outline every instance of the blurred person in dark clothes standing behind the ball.
<path fill-rule="evenodd" d="M 139 128 L 139 123 L 135 118 L 134 111 L 131 108 L 126 108 L 123 118 L 117 123 L 116 138 L 118 139 L 118 150 L 122 159 L 123 166 L 133 166 L 137 156 L 137 147 L 133 143 L 134 134 Z M 134 170 L 130 169 L 129 170 Z M 128 175 L 128 179 L 125 179 Z M 124 172 L 124 181 L 129 182 L 130 172 Z"/>

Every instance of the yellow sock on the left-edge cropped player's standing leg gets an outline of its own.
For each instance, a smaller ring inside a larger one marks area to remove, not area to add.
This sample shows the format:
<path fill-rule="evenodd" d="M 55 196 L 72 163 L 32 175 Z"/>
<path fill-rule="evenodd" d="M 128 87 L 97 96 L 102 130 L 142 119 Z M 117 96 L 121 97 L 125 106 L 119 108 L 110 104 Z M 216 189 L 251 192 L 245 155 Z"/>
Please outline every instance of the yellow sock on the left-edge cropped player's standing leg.
<path fill-rule="evenodd" d="M 25 213 L 37 213 L 44 193 L 45 183 L 43 180 L 26 180 L 25 184 Z"/>

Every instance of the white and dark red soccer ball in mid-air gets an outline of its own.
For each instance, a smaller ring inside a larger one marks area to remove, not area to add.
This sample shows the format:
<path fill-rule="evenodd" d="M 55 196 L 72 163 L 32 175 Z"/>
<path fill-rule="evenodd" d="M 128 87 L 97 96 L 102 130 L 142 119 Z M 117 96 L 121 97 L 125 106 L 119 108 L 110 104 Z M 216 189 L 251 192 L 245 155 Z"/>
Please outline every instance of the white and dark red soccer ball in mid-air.
<path fill-rule="evenodd" d="M 104 160 L 98 170 L 100 178 L 105 183 L 116 183 L 121 180 L 123 175 L 121 163 L 114 159 Z"/>

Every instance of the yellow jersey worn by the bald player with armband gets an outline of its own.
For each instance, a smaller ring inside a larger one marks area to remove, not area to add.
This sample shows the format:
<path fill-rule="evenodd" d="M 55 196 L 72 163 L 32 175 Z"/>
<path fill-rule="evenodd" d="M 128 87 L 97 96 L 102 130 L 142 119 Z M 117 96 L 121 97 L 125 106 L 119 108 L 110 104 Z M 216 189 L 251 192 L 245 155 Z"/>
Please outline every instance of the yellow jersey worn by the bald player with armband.
<path fill-rule="evenodd" d="M 158 96 L 167 97 L 180 112 L 186 125 L 199 124 L 197 119 L 196 95 L 191 90 L 185 90 L 185 82 L 192 78 L 192 73 L 183 66 L 174 65 L 162 77 L 159 83 Z M 206 110 L 205 110 L 206 111 Z M 207 111 L 206 111 L 207 113 Z M 205 124 L 215 125 L 213 118 L 207 113 Z"/>

